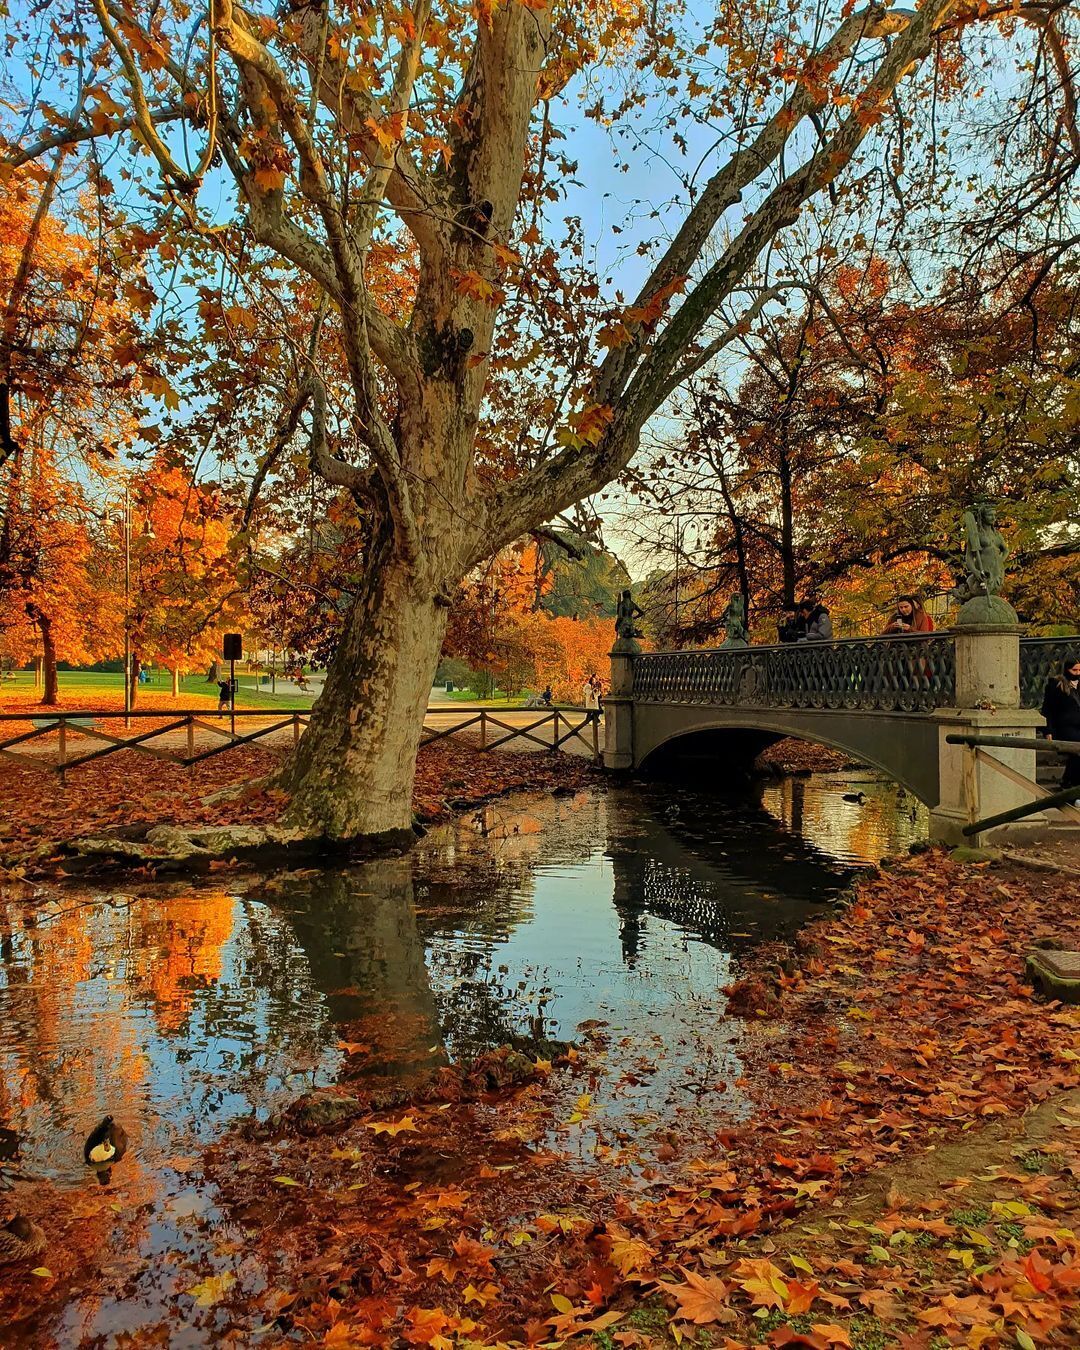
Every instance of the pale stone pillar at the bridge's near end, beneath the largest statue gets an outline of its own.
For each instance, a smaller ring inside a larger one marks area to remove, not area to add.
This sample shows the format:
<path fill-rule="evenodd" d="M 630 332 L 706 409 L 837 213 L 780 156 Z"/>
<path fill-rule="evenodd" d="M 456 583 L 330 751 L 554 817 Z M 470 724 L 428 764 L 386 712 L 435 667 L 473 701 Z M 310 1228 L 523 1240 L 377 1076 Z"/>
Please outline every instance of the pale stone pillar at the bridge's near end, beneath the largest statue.
<path fill-rule="evenodd" d="M 1008 610 L 1003 601 L 999 603 Z M 1004 618 L 1002 614 L 1000 620 Z M 940 737 L 940 799 L 930 811 L 930 837 L 945 844 L 975 845 L 1045 826 L 1046 817 L 1038 814 L 979 836 L 963 833 L 965 825 L 1033 801 L 1037 792 L 1025 783 L 1035 782 L 1035 752 L 999 747 L 979 752 L 967 745 L 949 745 L 946 736 L 1030 738 L 1042 718 L 1021 707 L 1021 626 L 1015 614 L 1013 622 L 961 622 L 953 629 L 953 640 L 956 706 L 934 713 Z M 1004 772 L 992 767 L 991 756 Z"/>

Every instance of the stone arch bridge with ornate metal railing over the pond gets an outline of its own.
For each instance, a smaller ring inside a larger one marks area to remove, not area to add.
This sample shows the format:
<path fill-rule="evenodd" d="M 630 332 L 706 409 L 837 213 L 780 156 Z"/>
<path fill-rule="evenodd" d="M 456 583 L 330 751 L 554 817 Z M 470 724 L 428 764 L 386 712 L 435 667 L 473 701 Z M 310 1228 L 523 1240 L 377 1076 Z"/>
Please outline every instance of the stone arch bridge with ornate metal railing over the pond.
<path fill-rule="evenodd" d="M 1000 628 L 688 652 L 620 641 L 605 764 L 722 780 L 792 736 L 880 770 L 930 807 L 933 837 L 959 841 L 972 821 L 1040 795 L 1035 751 L 998 748 L 991 764 L 948 737 L 1030 741 L 1046 679 L 1075 647 Z"/>

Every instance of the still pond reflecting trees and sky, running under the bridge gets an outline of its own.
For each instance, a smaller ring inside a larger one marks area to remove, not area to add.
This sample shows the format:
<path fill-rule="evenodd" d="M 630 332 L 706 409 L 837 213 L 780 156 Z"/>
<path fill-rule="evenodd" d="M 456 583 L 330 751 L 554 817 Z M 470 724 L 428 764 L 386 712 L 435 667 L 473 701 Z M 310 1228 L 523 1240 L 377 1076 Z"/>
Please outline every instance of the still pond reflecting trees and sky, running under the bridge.
<path fill-rule="evenodd" d="M 737 1119 L 733 957 L 791 936 L 855 868 L 923 830 L 867 775 L 788 779 L 757 799 L 532 794 L 432 830 L 405 859 L 70 887 L 35 913 L 3 902 L 0 1125 L 22 1141 L 8 1166 L 97 1187 L 81 1145 L 112 1114 L 131 1152 L 108 1185 L 144 1215 L 117 1254 L 139 1296 L 74 1303 L 62 1343 L 161 1315 L 223 1222 L 193 1177 L 198 1148 L 312 1087 L 408 1083 L 585 1027 L 609 1120 L 633 1133 L 693 1116 L 718 1081 Z"/>

